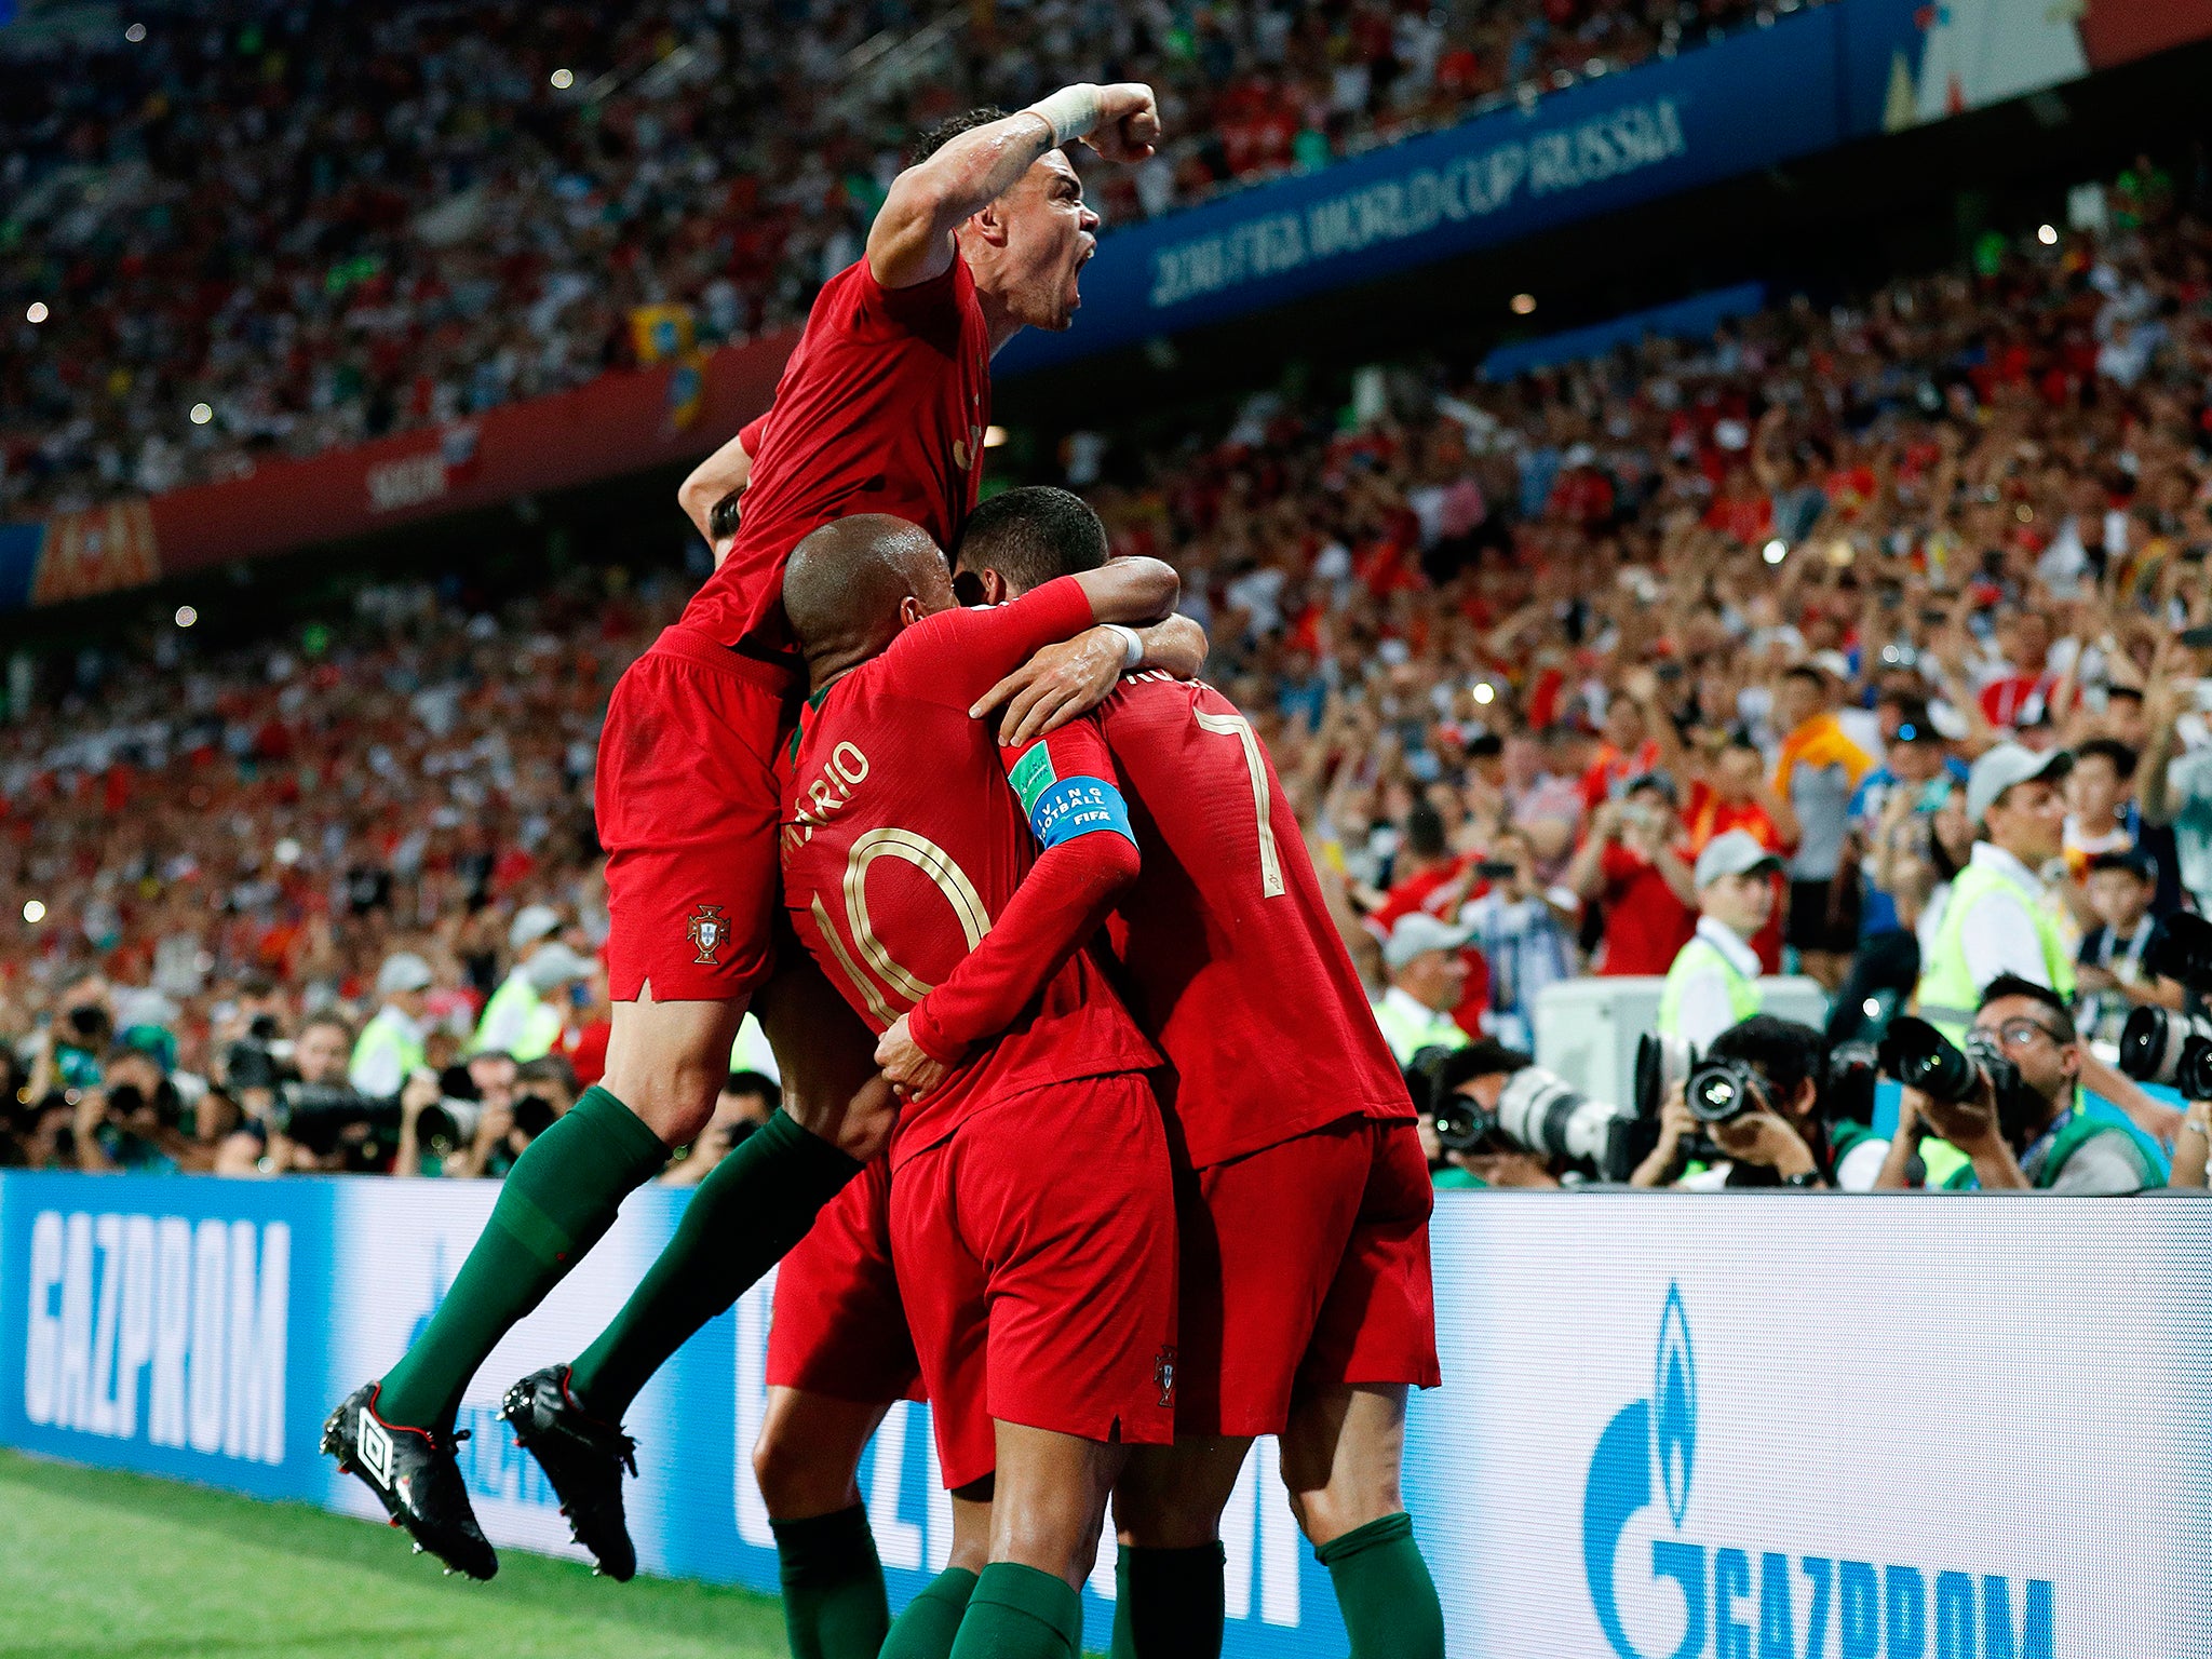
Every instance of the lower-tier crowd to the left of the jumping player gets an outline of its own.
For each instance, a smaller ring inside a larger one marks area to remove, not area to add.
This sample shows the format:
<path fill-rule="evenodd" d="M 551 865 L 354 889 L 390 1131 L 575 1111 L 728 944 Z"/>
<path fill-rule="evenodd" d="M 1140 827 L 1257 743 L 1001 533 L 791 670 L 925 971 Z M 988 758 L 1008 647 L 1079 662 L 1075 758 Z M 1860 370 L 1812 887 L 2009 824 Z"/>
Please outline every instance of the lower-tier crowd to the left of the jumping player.
<path fill-rule="evenodd" d="M 502 1175 L 604 1062 L 595 741 L 681 599 L 378 586 L 296 644 L 80 659 L 0 739 L 0 1161 Z M 772 1106 L 745 1079 L 686 1179 Z"/>

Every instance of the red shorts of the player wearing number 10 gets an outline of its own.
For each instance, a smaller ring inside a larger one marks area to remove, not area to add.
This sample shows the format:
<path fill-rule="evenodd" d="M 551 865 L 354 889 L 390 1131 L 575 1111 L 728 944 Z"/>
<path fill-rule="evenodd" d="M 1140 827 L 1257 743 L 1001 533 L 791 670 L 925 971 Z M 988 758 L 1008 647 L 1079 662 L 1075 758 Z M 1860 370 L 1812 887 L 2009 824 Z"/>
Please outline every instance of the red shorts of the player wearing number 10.
<path fill-rule="evenodd" d="M 900 1166 L 891 1261 L 947 1486 L 998 1467 L 993 1422 L 1175 1440 L 1170 1181 L 1135 1073 L 991 1102 Z"/>

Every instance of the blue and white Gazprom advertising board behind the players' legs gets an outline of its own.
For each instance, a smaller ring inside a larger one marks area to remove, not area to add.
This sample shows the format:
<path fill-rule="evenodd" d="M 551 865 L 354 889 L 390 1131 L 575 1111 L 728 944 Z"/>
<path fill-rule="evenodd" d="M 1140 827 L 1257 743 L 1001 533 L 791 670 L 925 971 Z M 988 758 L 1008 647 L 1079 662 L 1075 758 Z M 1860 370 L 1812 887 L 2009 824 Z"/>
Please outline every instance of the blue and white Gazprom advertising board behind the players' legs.
<path fill-rule="evenodd" d="M 316 1455 L 323 1413 L 420 1329 L 493 1194 L 0 1175 L 0 1444 L 380 1520 Z M 500 1389 L 597 1334 L 681 1201 L 633 1197 L 478 1374 L 462 1469 L 500 1546 L 577 1555 Z M 2212 1203 L 1451 1192 L 1433 1250 L 1447 1380 L 1405 1484 L 1455 1659 L 2208 1652 Z M 646 1573 L 776 1586 L 748 1462 L 768 1305 L 630 1413 Z M 936 1473 L 927 1407 L 891 1407 L 860 1491 L 894 1604 L 949 1548 Z M 1340 1659 L 1270 1442 L 1223 1544 L 1230 1655 Z M 1102 1553 L 1091 1648 L 1110 1597 Z"/>

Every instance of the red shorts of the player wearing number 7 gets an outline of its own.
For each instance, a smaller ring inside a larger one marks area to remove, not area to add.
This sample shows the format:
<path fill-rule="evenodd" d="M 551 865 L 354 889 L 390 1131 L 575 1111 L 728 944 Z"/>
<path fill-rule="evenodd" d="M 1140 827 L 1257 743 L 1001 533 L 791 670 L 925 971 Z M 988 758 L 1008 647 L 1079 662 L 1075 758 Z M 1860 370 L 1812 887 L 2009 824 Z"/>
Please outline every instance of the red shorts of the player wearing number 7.
<path fill-rule="evenodd" d="M 1281 1433 L 1296 1387 L 1433 1389 L 1429 1161 L 1411 1119 L 1345 1117 L 1177 1170 L 1181 1436 Z"/>

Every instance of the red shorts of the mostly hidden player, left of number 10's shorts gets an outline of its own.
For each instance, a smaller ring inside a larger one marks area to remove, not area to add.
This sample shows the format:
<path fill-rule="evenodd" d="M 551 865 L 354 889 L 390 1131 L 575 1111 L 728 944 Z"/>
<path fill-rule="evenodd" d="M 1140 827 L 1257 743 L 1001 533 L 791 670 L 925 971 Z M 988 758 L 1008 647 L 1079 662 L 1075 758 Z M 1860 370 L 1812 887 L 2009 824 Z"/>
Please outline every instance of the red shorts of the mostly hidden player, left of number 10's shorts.
<path fill-rule="evenodd" d="M 922 1398 L 891 1272 L 891 1159 L 847 1181 L 776 1267 L 768 1383 L 860 1405 Z"/>

